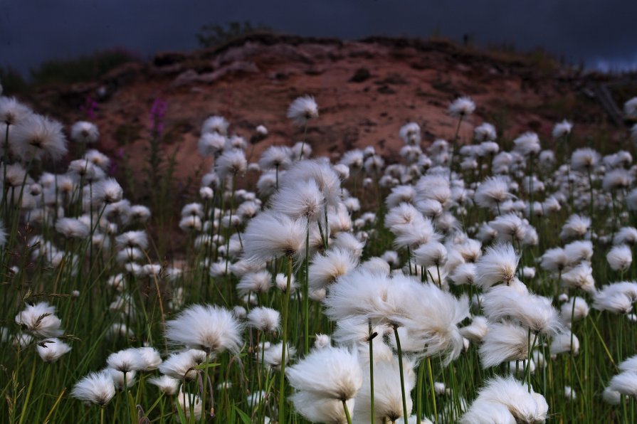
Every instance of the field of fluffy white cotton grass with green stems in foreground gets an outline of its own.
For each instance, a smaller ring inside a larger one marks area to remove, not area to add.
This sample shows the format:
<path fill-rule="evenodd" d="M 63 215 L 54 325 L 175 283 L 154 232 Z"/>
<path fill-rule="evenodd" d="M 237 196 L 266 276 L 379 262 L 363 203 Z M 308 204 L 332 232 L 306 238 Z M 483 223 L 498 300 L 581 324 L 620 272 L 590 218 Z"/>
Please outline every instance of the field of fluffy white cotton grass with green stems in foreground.
<path fill-rule="evenodd" d="M 208 117 L 167 258 L 94 124 L 0 97 L 1 421 L 635 423 L 637 124 L 460 139 L 475 107 L 397 163 L 313 157 L 310 96 L 253 163 Z"/>

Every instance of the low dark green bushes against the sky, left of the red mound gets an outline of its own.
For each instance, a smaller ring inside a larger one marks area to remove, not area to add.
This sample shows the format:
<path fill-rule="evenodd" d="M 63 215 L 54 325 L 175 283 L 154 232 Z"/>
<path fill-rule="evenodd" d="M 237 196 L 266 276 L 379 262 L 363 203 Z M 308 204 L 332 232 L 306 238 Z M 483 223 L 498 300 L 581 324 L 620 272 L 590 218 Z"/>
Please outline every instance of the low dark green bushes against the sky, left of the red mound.
<path fill-rule="evenodd" d="M 124 63 L 136 62 L 139 56 L 123 48 L 98 51 L 65 60 L 46 60 L 31 70 L 34 85 L 79 83 L 100 78 Z"/>

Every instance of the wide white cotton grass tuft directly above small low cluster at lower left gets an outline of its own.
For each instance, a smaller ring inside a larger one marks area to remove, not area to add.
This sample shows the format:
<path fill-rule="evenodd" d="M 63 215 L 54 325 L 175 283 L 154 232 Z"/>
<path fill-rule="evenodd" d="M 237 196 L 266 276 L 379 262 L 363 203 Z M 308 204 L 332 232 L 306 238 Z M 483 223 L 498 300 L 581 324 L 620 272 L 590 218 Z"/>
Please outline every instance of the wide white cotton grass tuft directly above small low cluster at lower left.
<path fill-rule="evenodd" d="M 242 326 L 233 314 L 216 305 L 195 304 L 166 322 L 166 338 L 172 344 L 200 349 L 208 354 L 241 348 Z"/>

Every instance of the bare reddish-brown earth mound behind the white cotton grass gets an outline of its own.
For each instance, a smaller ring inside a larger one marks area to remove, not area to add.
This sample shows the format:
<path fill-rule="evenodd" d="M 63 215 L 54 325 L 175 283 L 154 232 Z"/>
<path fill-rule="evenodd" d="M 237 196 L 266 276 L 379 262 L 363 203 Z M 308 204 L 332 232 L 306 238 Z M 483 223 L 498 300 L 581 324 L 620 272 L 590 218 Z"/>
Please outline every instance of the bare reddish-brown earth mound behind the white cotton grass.
<path fill-rule="evenodd" d="M 177 149 L 177 173 L 185 179 L 209 166 L 196 150 L 206 117 L 223 115 L 231 132 L 248 140 L 257 125 L 265 125 L 268 137 L 248 149 L 256 160 L 264 147 L 302 137 L 285 113 L 305 94 L 314 95 L 320 108 L 307 139 L 315 153 L 332 158 L 369 144 L 394 155 L 401 147 L 399 128 L 409 121 L 421 124 L 425 143 L 451 138 L 456 120 L 446 108 L 460 95 L 478 105 L 460 129 L 465 139 L 488 121 L 505 138 L 534 130 L 549 142 L 554 122 L 566 117 L 582 137 L 622 140 L 626 127 L 607 123 L 609 110 L 595 96 L 609 80 L 547 58 L 446 41 L 259 35 L 206 51 L 160 53 L 152 63 L 123 65 L 95 83 L 41 90 L 30 100 L 66 124 L 85 119 L 80 105 L 86 97 L 98 100 L 98 148 L 114 156 L 125 149 L 140 159 L 147 154 L 149 110 L 157 98 L 166 100 L 164 144 L 168 152 Z"/>

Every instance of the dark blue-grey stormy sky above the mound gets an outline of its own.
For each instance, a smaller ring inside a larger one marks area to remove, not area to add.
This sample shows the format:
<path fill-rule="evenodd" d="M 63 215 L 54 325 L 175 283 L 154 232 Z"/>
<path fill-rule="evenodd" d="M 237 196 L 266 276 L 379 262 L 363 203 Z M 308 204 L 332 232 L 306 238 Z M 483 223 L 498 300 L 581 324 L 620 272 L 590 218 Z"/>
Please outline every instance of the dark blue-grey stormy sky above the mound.
<path fill-rule="evenodd" d="M 637 65 L 636 0 L 0 0 L 0 66 L 23 72 L 48 58 L 125 47 L 197 47 L 204 23 L 251 21 L 285 33 L 472 34 L 478 44 L 542 46 L 591 68 Z"/>

